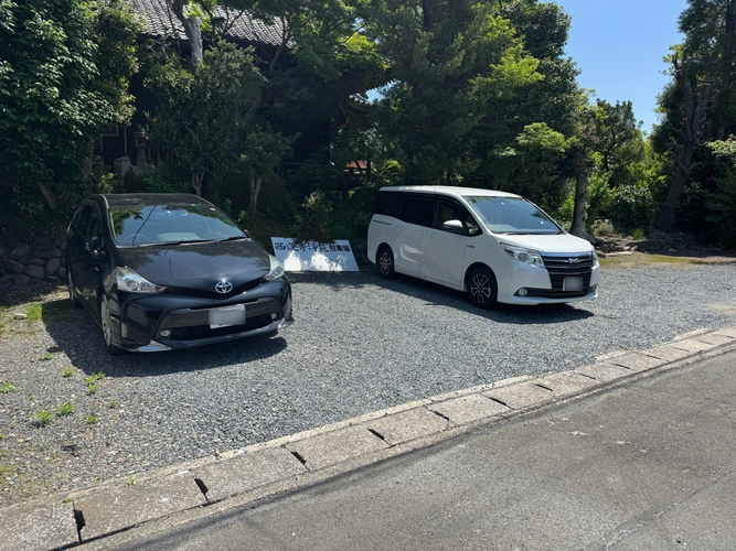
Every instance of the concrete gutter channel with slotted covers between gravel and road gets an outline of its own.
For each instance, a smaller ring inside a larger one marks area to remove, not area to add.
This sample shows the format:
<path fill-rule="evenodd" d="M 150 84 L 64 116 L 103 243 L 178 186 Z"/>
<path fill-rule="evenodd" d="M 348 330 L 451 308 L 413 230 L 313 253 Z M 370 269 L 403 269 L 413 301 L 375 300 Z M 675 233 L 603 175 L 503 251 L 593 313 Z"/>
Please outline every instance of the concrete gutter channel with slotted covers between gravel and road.
<path fill-rule="evenodd" d="M 480 425 L 736 349 L 736 326 L 537 378 L 515 377 L 0 510 L 0 551 L 103 548 L 323 482 Z"/>

